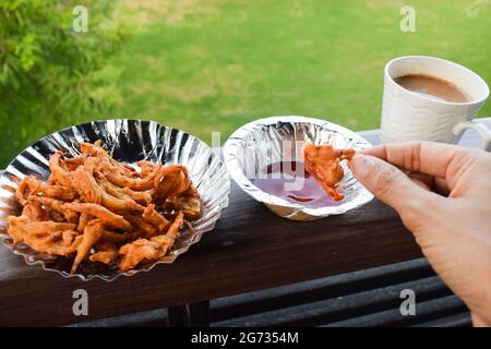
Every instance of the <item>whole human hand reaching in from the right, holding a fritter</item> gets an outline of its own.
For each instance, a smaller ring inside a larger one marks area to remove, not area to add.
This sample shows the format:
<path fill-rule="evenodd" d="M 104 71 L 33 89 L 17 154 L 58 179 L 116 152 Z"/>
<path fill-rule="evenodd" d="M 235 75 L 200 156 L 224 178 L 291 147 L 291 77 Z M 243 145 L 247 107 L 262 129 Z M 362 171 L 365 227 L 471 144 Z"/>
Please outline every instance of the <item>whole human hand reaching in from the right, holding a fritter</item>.
<path fill-rule="evenodd" d="M 431 142 L 387 144 L 362 151 L 349 166 L 399 214 L 470 309 L 474 325 L 491 326 L 491 154 Z"/>

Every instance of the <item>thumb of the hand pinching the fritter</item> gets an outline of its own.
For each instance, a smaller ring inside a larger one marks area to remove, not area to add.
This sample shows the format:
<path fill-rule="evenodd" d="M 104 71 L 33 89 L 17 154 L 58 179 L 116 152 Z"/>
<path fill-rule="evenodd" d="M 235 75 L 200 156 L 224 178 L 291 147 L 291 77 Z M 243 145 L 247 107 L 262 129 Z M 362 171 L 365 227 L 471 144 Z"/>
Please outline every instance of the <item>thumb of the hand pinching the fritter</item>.
<path fill-rule="evenodd" d="M 408 210 L 422 208 L 430 198 L 430 192 L 395 166 L 374 156 L 357 154 L 349 167 L 361 184 L 402 216 Z"/>

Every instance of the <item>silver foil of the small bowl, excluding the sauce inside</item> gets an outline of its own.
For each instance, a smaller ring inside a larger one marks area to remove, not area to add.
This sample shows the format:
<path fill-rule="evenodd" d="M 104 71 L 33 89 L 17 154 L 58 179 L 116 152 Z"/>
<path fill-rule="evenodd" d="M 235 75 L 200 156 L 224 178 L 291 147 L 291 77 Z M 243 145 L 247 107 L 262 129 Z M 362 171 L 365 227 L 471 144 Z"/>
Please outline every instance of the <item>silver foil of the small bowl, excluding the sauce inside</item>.
<path fill-rule="evenodd" d="M 253 184 L 261 169 L 271 164 L 303 163 L 301 146 L 308 141 L 315 145 L 331 144 L 335 148 L 356 151 L 371 146 L 357 133 L 325 120 L 297 116 L 272 117 L 250 122 L 233 132 L 224 146 L 225 165 L 231 178 L 246 193 L 289 219 L 312 220 L 338 215 L 373 198 L 352 176 L 346 161 L 342 163 L 345 177 L 339 183 L 346 197 L 327 206 L 307 207 L 303 203 L 291 203 Z"/>

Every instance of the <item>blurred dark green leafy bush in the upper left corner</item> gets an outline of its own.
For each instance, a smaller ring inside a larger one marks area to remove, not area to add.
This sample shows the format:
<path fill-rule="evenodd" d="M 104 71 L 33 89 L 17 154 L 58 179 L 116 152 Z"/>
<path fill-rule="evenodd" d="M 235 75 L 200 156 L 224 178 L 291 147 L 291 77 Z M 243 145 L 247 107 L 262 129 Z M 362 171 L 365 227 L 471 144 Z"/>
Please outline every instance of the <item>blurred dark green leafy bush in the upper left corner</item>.
<path fill-rule="evenodd" d="M 83 1 L 88 32 L 75 33 L 80 1 L 0 2 L 0 167 L 52 131 L 91 120 L 119 100 L 111 64 L 120 46 L 110 1 Z"/>

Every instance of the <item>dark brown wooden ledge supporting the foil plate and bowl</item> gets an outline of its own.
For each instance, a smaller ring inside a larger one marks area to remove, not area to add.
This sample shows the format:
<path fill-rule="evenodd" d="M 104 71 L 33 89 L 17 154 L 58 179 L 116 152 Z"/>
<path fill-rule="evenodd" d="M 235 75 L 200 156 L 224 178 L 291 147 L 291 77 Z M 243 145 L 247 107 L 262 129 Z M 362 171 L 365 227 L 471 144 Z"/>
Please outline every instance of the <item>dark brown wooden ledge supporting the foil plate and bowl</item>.
<path fill-rule="evenodd" d="M 491 119 L 480 122 L 491 127 Z M 380 143 L 378 131 L 361 134 Z M 460 144 L 478 147 L 480 140 L 468 132 Z M 173 264 L 149 273 L 112 282 L 65 279 L 26 265 L 1 245 L 0 326 L 65 325 L 158 308 L 179 315 L 219 297 L 420 256 L 396 213 L 378 200 L 340 216 L 298 222 L 277 217 L 232 183 L 230 205 L 215 230 Z M 73 315 L 76 289 L 88 293 L 87 316 Z"/>

